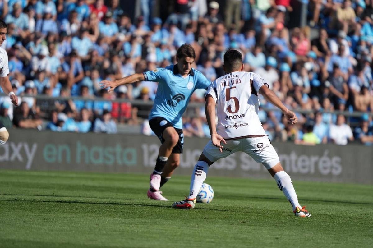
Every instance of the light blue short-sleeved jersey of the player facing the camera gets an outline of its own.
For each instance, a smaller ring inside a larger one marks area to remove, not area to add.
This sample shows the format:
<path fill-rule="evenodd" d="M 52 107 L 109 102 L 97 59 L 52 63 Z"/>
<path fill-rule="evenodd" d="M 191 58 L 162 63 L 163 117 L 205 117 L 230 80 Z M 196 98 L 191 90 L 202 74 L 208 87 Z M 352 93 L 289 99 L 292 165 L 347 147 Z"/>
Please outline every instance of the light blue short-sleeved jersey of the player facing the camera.
<path fill-rule="evenodd" d="M 211 83 L 201 72 L 194 69 L 183 78 L 176 65 L 144 72 L 144 76 L 145 81 L 159 82 L 149 120 L 163 117 L 171 122 L 174 128 L 179 129 L 182 129 L 181 116 L 193 92 L 197 89 L 207 89 Z"/>

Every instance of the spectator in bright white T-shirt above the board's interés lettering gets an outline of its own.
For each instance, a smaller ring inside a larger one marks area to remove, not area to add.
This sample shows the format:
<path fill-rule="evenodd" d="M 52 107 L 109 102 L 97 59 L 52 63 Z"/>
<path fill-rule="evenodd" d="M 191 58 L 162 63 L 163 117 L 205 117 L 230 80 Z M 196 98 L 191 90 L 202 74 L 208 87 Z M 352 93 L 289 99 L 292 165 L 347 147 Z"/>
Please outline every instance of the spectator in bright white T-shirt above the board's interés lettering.
<path fill-rule="evenodd" d="M 347 145 L 348 140 L 354 140 L 350 126 L 345 122 L 346 118 L 342 114 L 339 114 L 336 125 L 330 125 L 329 138 L 336 145 Z"/>

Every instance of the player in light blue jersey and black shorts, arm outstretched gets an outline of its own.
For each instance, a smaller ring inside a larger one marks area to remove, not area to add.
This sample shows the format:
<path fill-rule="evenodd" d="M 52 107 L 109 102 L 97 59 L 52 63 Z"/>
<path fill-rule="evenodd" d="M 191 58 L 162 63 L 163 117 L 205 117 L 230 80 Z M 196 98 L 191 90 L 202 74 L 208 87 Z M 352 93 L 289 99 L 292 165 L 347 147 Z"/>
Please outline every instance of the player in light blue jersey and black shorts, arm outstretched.
<path fill-rule="evenodd" d="M 116 81 L 100 82 L 101 87 L 108 91 L 113 91 L 122 84 L 139 81 L 159 82 L 149 115 L 150 128 L 162 143 L 156 166 L 150 175 L 148 197 L 154 200 L 168 201 L 159 189 L 180 164 L 184 144 L 181 116 L 193 92 L 201 88 L 207 89 L 210 85 L 210 81 L 201 72 L 192 69 L 194 59 L 193 47 L 184 44 L 176 52 L 176 65 L 136 73 Z"/>

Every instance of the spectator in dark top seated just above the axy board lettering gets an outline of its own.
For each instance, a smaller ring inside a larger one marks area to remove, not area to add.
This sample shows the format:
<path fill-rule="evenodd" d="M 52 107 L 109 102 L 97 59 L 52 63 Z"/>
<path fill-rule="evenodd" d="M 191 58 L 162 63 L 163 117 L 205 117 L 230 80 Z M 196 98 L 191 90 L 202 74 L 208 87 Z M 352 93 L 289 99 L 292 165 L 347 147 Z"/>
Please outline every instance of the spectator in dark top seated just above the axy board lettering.
<path fill-rule="evenodd" d="M 13 124 L 19 128 L 34 128 L 41 130 L 41 124 L 43 121 L 35 115 L 28 106 L 28 103 L 22 102 L 19 107 L 16 108 Z"/>

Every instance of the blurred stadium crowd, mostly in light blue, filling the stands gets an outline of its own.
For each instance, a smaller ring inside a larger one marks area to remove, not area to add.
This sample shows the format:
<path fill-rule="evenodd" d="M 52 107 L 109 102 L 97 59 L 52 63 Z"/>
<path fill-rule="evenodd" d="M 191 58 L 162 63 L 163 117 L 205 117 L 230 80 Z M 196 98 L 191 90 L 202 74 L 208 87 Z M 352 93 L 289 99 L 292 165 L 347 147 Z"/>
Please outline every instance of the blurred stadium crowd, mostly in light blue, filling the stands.
<path fill-rule="evenodd" d="M 134 19 L 119 0 L 1 1 L 0 16 L 8 24 L 3 48 L 22 102 L 13 109 L 6 97 L 0 99 L 3 123 L 116 133 L 120 122 L 142 125 L 151 135 L 146 121 L 151 104 L 108 100 L 151 103 L 157 83 L 122 85 L 109 93 L 99 82 L 175 63 L 177 48 L 189 43 L 195 68 L 209 80 L 224 75 L 223 54 L 235 48 L 243 54 L 245 70 L 259 73 L 287 107 L 309 111 L 297 113 L 293 126 L 282 113 L 261 109 L 271 140 L 373 144 L 368 114 L 373 113 L 373 0 L 300 1 L 308 6 L 308 25 L 302 28 L 291 21 L 290 0 L 226 0 L 224 8 L 207 0 L 137 1 L 142 15 Z M 167 6 L 162 12 L 168 14 L 160 15 L 156 5 Z M 36 100 L 32 95 L 37 94 L 89 100 Z M 191 101 L 203 103 L 204 91 L 196 91 Z M 272 108 L 264 98 L 260 102 Z M 365 114 L 348 117 L 351 128 L 345 116 L 328 113 L 334 110 Z M 193 111 L 184 114 L 184 135 L 209 136 L 204 110 Z M 46 119 L 50 122 L 43 125 Z"/>

